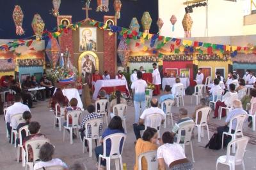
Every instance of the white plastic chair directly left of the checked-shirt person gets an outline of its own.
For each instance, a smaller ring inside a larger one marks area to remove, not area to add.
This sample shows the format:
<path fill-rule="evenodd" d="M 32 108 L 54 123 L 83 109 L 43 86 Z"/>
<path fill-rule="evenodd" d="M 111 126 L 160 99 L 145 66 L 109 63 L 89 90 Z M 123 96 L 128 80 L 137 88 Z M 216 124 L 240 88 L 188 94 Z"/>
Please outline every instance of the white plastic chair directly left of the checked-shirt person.
<path fill-rule="evenodd" d="M 69 136 L 70 136 L 70 144 L 73 143 L 73 129 L 76 129 L 76 134 L 78 135 L 78 129 L 80 128 L 79 126 L 79 117 L 81 115 L 82 111 L 70 111 L 67 114 L 67 125 L 64 126 L 63 130 L 63 141 L 65 140 L 65 129 L 69 130 Z M 72 124 L 70 124 L 69 117 L 72 117 Z"/>

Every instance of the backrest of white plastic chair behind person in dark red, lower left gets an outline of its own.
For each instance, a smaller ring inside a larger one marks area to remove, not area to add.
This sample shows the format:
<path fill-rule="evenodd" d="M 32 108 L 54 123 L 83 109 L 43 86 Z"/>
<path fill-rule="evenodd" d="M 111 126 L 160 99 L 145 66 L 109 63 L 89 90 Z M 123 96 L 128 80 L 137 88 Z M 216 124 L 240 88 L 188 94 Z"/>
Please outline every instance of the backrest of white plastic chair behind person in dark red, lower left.
<path fill-rule="evenodd" d="M 33 152 L 33 162 L 35 163 L 36 160 L 39 160 L 39 151 L 42 145 L 45 143 L 50 143 L 50 140 L 45 139 L 31 139 L 29 141 L 26 141 L 25 143 L 25 150 L 26 155 L 28 155 L 28 146 L 31 146 L 32 152 Z M 26 160 L 28 162 L 28 157 L 26 157 Z"/>

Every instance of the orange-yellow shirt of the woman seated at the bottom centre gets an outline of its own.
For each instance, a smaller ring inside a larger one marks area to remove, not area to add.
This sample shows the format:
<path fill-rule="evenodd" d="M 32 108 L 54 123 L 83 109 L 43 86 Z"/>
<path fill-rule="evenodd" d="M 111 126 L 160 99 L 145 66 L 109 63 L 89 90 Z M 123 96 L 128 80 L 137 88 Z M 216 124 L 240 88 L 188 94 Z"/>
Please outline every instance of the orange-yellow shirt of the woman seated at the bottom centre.
<path fill-rule="evenodd" d="M 136 154 L 136 160 L 134 165 L 134 170 L 138 170 L 138 157 L 140 153 L 148 152 L 151 150 L 157 150 L 158 146 L 154 143 L 151 143 L 149 141 L 143 141 L 143 139 L 138 139 L 137 143 L 135 145 L 135 154 Z M 147 170 L 147 160 L 145 158 L 142 158 L 141 160 L 141 167 L 142 170 Z"/>

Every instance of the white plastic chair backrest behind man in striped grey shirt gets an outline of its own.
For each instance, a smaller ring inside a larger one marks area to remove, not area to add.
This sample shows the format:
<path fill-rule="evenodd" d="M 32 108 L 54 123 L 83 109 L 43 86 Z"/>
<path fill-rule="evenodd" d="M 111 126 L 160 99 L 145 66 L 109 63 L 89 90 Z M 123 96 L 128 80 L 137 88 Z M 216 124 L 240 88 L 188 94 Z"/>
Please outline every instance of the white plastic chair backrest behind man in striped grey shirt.
<path fill-rule="evenodd" d="M 192 123 L 192 122 L 186 125 L 182 125 L 178 131 L 177 143 L 180 143 L 180 137 L 182 136 L 182 132 L 185 132 L 184 145 L 186 145 L 186 143 L 190 143 L 194 128 L 195 128 L 195 123 Z"/>

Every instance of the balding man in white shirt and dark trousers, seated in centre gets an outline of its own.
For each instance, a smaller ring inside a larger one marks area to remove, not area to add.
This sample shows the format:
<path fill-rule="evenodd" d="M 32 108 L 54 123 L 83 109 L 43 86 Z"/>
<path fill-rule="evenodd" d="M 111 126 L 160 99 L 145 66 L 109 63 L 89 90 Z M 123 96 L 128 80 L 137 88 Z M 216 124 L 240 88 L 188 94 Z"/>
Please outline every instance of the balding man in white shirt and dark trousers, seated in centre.
<path fill-rule="evenodd" d="M 149 115 L 158 113 L 159 117 L 161 117 L 162 123 L 164 122 L 164 111 L 157 107 L 157 98 L 153 97 L 150 103 L 151 107 L 144 110 L 143 113 L 141 114 L 139 124 L 133 124 L 133 131 L 136 136 L 136 139 L 141 138 L 140 131 L 143 131 L 145 129 L 145 126 L 150 127 L 150 118 L 148 118 Z"/>

